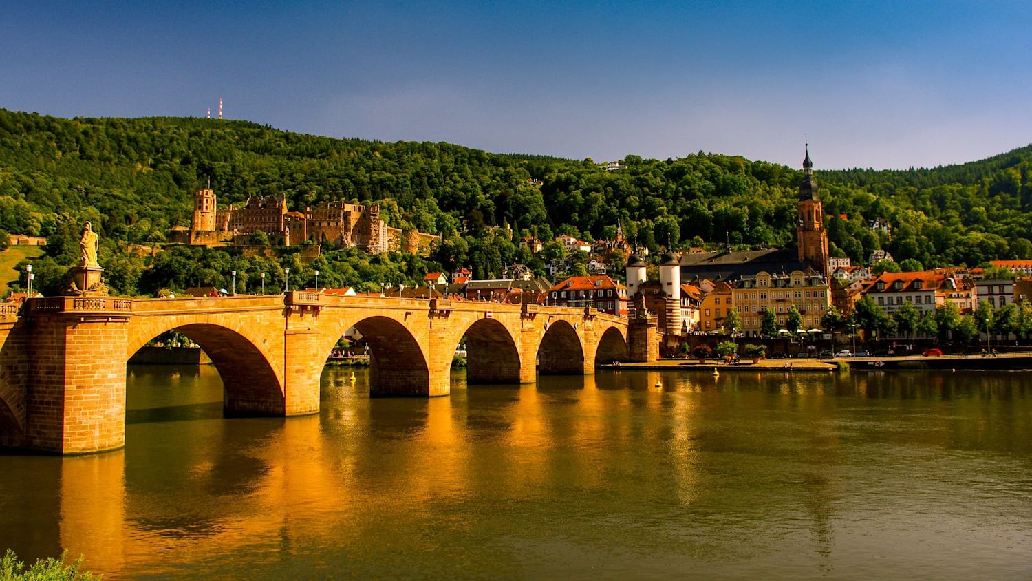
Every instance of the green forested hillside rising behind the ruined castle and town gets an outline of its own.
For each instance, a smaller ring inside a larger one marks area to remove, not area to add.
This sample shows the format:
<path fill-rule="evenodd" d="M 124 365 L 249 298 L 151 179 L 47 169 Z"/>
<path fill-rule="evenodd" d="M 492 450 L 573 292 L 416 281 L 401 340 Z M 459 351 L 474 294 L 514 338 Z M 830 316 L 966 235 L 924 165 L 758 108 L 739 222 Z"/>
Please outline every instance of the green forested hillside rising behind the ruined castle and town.
<path fill-rule="evenodd" d="M 819 152 L 811 154 L 819 167 Z M 482 271 L 516 258 L 511 245 L 487 258 L 475 248 L 490 246 L 504 229 L 489 227 L 506 224 L 517 235 L 599 238 L 619 220 L 653 250 L 729 238 L 795 245 L 800 169 L 702 153 L 621 163 L 606 171 L 591 160 L 335 139 L 240 121 L 0 109 L 0 229 L 51 235 L 91 219 L 106 239 L 160 241 L 189 223 L 191 193 L 211 180 L 220 204 L 249 194 L 285 195 L 292 208 L 390 198 L 391 224 L 443 235 L 446 266 L 489 262 Z M 817 171 L 833 253 L 863 262 L 885 248 L 925 266 L 1032 257 L 1030 167 L 1032 148 L 1023 148 L 932 169 Z M 868 228 L 879 217 L 892 224 L 892 240 Z M 459 237 L 463 220 L 469 231 Z"/>

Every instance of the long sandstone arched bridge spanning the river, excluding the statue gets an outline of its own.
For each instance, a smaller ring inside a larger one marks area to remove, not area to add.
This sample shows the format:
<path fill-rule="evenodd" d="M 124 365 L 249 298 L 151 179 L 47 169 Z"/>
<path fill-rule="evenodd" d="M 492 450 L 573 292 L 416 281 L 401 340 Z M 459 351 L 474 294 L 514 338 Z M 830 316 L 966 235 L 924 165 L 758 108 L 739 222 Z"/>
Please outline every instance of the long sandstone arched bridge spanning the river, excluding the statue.
<path fill-rule="evenodd" d="M 175 329 L 212 358 L 229 415 L 319 411 L 319 380 L 354 326 L 370 395 L 447 395 L 464 336 L 467 381 L 533 383 L 596 363 L 655 360 L 652 321 L 537 304 L 327 296 L 47 297 L 0 309 L 0 446 L 70 454 L 125 443 L 126 362 Z M 537 369 L 536 369 L 537 362 Z"/>

